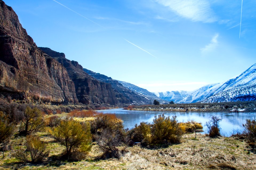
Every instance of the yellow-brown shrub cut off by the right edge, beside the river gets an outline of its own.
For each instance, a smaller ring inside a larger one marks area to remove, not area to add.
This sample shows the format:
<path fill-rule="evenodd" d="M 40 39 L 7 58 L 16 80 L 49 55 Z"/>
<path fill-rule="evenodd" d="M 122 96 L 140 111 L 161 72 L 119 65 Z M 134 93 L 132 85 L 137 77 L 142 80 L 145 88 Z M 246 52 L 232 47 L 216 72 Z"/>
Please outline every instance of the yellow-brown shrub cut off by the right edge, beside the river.
<path fill-rule="evenodd" d="M 247 140 L 249 142 L 256 141 L 256 119 L 246 119 L 246 123 L 243 124 L 243 127 L 245 128 L 247 134 Z"/>

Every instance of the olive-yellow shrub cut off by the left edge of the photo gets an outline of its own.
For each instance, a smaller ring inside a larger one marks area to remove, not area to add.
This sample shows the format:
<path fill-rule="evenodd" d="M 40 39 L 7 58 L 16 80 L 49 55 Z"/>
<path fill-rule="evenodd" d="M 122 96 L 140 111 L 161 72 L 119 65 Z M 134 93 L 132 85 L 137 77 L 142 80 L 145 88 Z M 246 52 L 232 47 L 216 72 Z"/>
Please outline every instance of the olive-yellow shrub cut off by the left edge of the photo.
<path fill-rule="evenodd" d="M 10 137 L 13 134 L 14 125 L 8 123 L 6 114 L 0 112 L 0 145 L 2 147 L 3 158 L 5 157 L 4 151 L 9 143 Z"/>

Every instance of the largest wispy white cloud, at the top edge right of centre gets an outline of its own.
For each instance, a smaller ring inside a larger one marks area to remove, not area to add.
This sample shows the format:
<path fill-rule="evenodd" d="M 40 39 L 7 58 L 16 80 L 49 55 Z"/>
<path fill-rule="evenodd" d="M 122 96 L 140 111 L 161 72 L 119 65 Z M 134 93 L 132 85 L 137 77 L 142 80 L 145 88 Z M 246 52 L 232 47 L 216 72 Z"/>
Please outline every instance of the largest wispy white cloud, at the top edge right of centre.
<path fill-rule="evenodd" d="M 168 7 L 177 15 L 192 21 L 212 23 L 217 21 L 210 3 L 207 0 L 155 0 Z"/>

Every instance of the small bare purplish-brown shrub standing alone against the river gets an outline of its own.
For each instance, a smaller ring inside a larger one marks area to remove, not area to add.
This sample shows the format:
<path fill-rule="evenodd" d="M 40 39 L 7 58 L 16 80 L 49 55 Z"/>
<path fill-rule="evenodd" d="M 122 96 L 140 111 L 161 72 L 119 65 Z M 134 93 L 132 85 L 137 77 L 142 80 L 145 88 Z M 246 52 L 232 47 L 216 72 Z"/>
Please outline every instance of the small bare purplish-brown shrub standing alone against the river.
<path fill-rule="evenodd" d="M 221 120 L 222 119 L 217 116 L 212 116 L 211 120 L 205 123 L 205 126 L 207 126 L 207 130 L 210 137 L 213 138 L 213 137 L 221 136 L 219 132 L 220 131 L 219 122 Z"/>

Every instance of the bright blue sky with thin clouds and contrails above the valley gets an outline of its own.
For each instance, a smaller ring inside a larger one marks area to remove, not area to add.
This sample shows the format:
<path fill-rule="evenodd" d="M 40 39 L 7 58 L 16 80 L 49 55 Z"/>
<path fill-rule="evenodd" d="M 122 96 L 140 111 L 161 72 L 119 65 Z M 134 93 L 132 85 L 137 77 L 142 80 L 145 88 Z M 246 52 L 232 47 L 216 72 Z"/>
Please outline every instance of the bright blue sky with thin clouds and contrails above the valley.
<path fill-rule="evenodd" d="M 243 1 L 241 34 L 240 0 L 57 2 L 5 0 L 37 46 L 152 92 L 195 90 L 256 63 L 255 0 Z"/>

